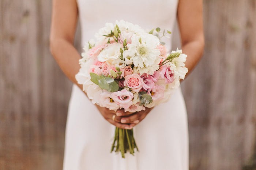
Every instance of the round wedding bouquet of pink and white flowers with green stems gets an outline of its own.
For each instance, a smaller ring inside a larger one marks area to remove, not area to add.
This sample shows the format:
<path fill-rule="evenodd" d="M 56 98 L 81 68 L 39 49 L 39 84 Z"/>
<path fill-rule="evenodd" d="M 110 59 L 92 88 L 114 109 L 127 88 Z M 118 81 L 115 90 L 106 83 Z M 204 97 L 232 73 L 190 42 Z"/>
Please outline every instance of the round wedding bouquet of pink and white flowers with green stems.
<path fill-rule="evenodd" d="M 182 50 L 167 53 L 162 37 L 170 31 L 144 31 L 139 25 L 116 21 L 106 23 L 83 48 L 76 75 L 83 91 L 95 104 L 116 111 L 138 112 L 167 102 L 184 79 L 187 55 Z M 116 149 L 115 149 L 116 148 Z M 116 127 L 111 152 L 137 149 L 133 130 Z"/>

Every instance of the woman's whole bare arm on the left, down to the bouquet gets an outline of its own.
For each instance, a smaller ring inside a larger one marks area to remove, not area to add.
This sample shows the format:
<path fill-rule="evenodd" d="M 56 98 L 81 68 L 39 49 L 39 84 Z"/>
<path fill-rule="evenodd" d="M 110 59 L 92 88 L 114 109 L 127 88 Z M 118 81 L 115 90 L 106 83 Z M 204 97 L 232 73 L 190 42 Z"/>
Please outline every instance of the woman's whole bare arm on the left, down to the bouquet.
<path fill-rule="evenodd" d="M 52 25 L 50 32 L 50 51 L 64 74 L 81 89 L 75 80 L 81 58 L 73 46 L 78 8 L 75 0 L 52 1 Z"/>

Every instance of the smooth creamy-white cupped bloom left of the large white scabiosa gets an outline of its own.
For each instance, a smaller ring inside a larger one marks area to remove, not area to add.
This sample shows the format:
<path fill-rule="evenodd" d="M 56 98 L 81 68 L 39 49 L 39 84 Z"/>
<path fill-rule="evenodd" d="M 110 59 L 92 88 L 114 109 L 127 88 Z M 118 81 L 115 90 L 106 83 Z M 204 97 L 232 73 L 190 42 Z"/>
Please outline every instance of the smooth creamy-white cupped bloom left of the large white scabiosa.
<path fill-rule="evenodd" d="M 101 51 L 101 53 L 99 53 L 98 55 L 98 60 L 100 62 L 107 62 L 109 64 L 112 64 L 113 63 L 118 63 L 118 59 L 121 55 L 121 52 L 120 52 L 120 47 L 121 45 L 118 44 L 118 43 L 114 43 L 106 48 L 104 48 L 104 50 Z"/>

